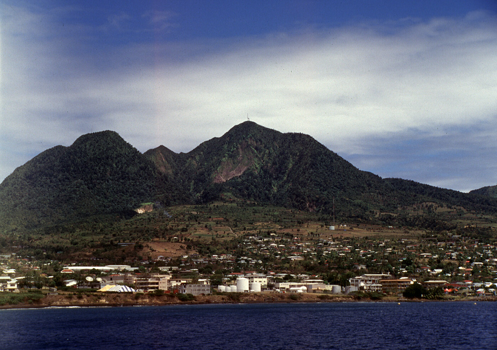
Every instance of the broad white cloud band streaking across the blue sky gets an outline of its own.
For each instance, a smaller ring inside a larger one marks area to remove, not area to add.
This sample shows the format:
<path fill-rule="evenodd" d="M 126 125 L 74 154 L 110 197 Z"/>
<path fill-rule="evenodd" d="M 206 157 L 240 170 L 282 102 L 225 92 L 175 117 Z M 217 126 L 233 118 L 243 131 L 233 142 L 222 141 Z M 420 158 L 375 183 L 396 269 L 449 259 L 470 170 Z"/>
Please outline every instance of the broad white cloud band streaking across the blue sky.
<path fill-rule="evenodd" d="M 496 121 L 497 26 L 485 13 L 126 44 L 102 47 L 97 56 L 97 48 L 57 37 L 40 15 L 19 22 L 29 16 L 2 24 L 0 178 L 47 145 L 70 145 L 91 130 L 115 130 L 142 152 L 160 144 L 187 152 L 248 113 L 263 126 L 310 134 L 335 152 L 360 156 L 373 138 L 408 131 L 430 137 Z M 155 21 L 166 25 L 171 16 Z M 4 161 L 19 143 L 29 145 L 24 157 Z M 433 174 L 432 182 L 463 188 L 451 178 Z"/>

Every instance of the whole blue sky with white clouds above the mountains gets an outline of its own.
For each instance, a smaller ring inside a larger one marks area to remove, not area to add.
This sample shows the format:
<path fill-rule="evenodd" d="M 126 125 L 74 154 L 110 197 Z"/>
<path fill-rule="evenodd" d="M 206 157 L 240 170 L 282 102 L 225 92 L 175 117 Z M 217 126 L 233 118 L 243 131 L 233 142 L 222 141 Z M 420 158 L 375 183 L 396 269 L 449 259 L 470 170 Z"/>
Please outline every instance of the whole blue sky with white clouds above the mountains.
<path fill-rule="evenodd" d="M 497 184 L 496 0 L 0 0 L 0 181 L 114 130 L 189 152 L 249 118 L 360 170 Z"/>

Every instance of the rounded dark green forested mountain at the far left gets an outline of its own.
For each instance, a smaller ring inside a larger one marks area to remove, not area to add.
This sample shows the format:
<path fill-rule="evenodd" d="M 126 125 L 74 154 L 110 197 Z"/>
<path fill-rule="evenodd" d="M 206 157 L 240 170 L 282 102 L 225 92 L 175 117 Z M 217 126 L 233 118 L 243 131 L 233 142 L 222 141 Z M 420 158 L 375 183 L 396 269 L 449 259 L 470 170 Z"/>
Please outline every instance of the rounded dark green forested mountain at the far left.
<path fill-rule="evenodd" d="M 4 227 L 36 227 L 122 213 L 155 196 L 157 170 L 117 133 L 103 131 L 57 146 L 0 184 Z"/>

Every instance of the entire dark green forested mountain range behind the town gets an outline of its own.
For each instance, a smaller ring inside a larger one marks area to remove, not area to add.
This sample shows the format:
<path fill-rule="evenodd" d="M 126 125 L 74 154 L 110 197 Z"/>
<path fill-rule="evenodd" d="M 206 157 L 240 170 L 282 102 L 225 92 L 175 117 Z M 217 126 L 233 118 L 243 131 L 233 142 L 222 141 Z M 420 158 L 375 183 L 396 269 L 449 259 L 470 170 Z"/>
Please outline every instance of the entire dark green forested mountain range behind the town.
<path fill-rule="evenodd" d="M 252 201 L 367 219 L 424 201 L 497 212 L 497 198 L 363 172 L 312 137 L 253 122 L 188 153 L 165 146 L 141 154 L 117 133 L 83 135 L 49 149 L 0 184 L 0 230 L 130 215 L 162 205 Z"/>

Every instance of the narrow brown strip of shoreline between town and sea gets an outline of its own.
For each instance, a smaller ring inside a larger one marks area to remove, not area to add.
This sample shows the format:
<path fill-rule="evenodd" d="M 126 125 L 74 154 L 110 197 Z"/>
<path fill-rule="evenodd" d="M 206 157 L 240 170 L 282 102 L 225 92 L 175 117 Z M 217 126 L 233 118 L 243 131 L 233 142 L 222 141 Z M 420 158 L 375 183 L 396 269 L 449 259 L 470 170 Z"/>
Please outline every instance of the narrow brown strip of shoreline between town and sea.
<path fill-rule="evenodd" d="M 381 299 L 357 298 L 352 295 L 333 295 L 315 293 L 222 293 L 198 295 L 194 300 L 181 301 L 174 294 L 133 294 L 133 293 L 78 293 L 46 295 L 43 298 L 19 304 L 0 305 L 5 309 L 34 309 L 48 307 L 119 307 L 119 306 L 167 306 L 201 304 L 276 304 L 276 303 L 328 303 L 328 302 L 426 302 L 426 301 L 497 301 L 497 296 L 464 297 L 441 300 L 405 299 L 384 297 Z"/>

